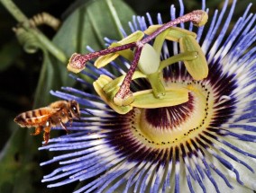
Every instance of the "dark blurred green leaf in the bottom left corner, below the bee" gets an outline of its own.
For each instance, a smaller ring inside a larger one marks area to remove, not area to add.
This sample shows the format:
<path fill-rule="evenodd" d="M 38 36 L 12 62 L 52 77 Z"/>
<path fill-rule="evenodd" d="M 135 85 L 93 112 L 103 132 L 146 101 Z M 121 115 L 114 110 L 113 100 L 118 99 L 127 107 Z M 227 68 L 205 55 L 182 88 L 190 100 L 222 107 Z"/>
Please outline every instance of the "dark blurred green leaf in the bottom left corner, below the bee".
<path fill-rule="evenodd" d="M 25 141 L 27 136 L 23 129 L 15 130 L 0 154 L 0 192 L 39 192 L 32 187 L 41 178 L 38 163 L 32 161 L 37 146 Z"/>

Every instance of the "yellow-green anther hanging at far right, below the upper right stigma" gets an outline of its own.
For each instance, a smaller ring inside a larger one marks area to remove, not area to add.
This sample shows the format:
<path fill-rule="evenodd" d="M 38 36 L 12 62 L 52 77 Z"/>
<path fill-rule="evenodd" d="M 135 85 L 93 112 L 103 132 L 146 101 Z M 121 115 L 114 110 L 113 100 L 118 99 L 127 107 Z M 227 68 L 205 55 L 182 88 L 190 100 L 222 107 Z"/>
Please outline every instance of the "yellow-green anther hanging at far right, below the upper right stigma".
<path fill-rule="evenodd" d="M 180 50 L 183 53 L 197 51 L 197 58 L 193 60 L 184 60 L 187 72 L 195 79 L 202 80 L 208 75 L 208 64 L 206 57 L 197 40 L 192 36 L 185 36 L 179 39 Z"/>

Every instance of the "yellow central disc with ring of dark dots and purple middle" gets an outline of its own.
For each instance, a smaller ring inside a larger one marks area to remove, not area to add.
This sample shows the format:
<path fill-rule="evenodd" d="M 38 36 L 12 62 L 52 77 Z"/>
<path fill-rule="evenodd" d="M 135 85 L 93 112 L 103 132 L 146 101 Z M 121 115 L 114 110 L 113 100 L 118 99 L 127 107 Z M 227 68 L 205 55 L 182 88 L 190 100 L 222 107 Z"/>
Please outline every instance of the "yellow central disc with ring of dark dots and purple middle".
<path fill-rule="evenodd" d="M 179 144 L 201 133 L 213 118 L 214 95 L 209 85 L 200 81 L 173 81 L 165 86 L 187 88 L 189 100 L 166 108 L 134 109 L 133 135 L 147 145 Z"/>

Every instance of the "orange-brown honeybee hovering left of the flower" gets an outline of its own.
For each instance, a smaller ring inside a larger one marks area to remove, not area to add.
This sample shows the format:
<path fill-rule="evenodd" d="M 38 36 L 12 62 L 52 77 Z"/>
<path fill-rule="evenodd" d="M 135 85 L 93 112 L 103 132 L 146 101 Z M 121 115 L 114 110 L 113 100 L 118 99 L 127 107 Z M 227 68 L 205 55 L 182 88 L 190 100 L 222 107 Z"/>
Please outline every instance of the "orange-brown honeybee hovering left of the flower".
<path fill-rule="evenodd" d="M 32 136 L 43 133 L 44 145 L 48 144 L 50 139 L 50 128 L 61 126 L 68 133 L 68 128 L 65 123 L 74 118 L 80 118 L 80 110 L 78 101 L 55 101 L 50 103 L 48 107 L 43 107 L 37 110 L 30 110 L 19 114 L 14 121 L 21 127 L 35 127 Z"/>

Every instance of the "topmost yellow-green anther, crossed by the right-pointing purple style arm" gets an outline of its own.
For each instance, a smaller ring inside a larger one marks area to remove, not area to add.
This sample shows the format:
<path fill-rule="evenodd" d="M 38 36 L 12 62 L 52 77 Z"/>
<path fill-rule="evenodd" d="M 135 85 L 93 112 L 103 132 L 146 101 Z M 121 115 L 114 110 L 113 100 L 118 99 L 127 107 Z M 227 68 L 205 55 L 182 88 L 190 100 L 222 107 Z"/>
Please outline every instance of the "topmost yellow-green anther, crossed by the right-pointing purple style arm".
<path fill-rule="evenodd" d="M 157 31 L 162 25 L 151 25 L 146 31 L 143 31 L 147 35 L 151 35 L 152 32 Z M 187 35 L 197 38 L 197 33 L 193 31 L 187 31 L 178 27 L 169 27 L 169 33 L 165 39 L 178 42 L 179 39 L 186 37 Z"/>

